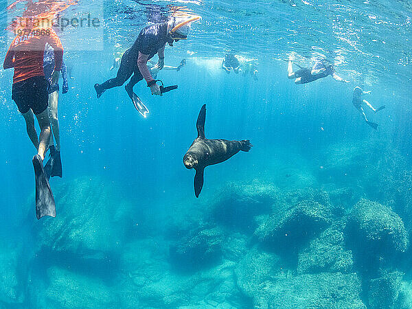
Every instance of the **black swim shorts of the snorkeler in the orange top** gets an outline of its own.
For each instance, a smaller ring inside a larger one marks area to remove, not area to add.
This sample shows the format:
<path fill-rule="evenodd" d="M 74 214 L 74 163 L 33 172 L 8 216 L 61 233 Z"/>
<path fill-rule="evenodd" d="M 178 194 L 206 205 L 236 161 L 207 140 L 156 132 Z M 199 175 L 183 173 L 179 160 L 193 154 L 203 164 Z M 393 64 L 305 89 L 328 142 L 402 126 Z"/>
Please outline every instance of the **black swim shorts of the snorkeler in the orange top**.
<path fill-rule="evenodd" d="M 34 115 L 43 113 L 49 106 L 48 86 L 49 82 L 44 76 L 34 76 L 13 84 L 12 100 L 16 102 L 20 113 L 25 114 L 30 108 Z"/>

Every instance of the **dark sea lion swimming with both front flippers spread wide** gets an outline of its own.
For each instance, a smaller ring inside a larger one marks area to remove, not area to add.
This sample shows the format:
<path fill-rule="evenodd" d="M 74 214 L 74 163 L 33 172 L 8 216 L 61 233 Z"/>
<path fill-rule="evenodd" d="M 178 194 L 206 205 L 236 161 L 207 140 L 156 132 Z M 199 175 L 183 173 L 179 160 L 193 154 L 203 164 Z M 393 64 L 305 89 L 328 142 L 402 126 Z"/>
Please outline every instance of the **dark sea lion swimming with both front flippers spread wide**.
<path fill-rule="evenodd" d="M 252 144 L 248 139 L 227 141 L 226 139 L 206 139 L 205 137 L 206 104 L 202 106 L 196 122 L 198 137 L 193 141 L 183 157 L 183 164 L 188 169 L 194 168 L 194 194 L 199 197 L 203 187 L 203 171 L 206 166 L 226 161 L 240 150 L 248 152 Z"/>

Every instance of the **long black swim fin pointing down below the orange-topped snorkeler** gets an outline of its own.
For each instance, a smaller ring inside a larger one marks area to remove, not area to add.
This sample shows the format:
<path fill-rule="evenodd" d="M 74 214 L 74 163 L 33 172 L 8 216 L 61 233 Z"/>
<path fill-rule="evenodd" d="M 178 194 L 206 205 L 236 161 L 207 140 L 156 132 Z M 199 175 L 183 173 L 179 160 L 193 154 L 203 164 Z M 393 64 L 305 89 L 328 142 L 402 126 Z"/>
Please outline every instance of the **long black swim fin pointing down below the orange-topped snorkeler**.
<path fill-rule="evenodd" d="M 52 188 L 47 181 L 43 162 L 39 155 L 33 157 L 34 175 L 36 177 L 36 216 L 40 219 L 43 216 L 56 217 L 56 204 Z"/>

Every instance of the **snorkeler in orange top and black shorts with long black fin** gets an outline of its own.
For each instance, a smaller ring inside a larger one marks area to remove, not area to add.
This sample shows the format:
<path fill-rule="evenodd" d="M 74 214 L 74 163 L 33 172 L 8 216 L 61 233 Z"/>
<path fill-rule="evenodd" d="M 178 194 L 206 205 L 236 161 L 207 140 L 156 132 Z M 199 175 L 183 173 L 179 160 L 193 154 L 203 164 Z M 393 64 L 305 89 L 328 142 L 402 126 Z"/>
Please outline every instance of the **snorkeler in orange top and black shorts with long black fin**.
<path fill-rule="evenodd" d="M 19 33 L 19 32 L 18 32 Z M 36 216 L 56 216 L 56 206 L 52 189 L 43 169 L 43 159 L 51 134 L 49 111 L 49 82 L 43 71 L 45 44 L 54 49 L 55 65 L 51 74 L 52 84 L 58 82 L 62 66 L 63 48 L 52 28 L 31 27 L 23 30 L 12 41 L 5 55 L 4 69 L 14 68 L 12 100 L 16 103 L 26 123 L 29 135 L 37 154 L 33 157 L 36 176 Z M 34 127 L 34 115 L 40 126 L 40 137 Z"/>

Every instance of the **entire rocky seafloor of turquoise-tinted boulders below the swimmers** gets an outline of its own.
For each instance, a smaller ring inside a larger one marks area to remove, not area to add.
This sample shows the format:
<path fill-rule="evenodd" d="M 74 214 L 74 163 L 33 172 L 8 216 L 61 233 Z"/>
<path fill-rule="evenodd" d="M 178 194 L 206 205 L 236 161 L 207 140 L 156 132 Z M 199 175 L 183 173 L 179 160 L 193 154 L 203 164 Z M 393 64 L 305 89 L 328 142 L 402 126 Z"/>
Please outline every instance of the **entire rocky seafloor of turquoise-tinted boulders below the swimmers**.
<path fill-rule="evenodd" d="M 317 160 L 161 212 L 98 177 L 56 186 L 56 218 L 0 240 L 0 308 L 412 308 L 404 159 L 336 144 Z"/>

